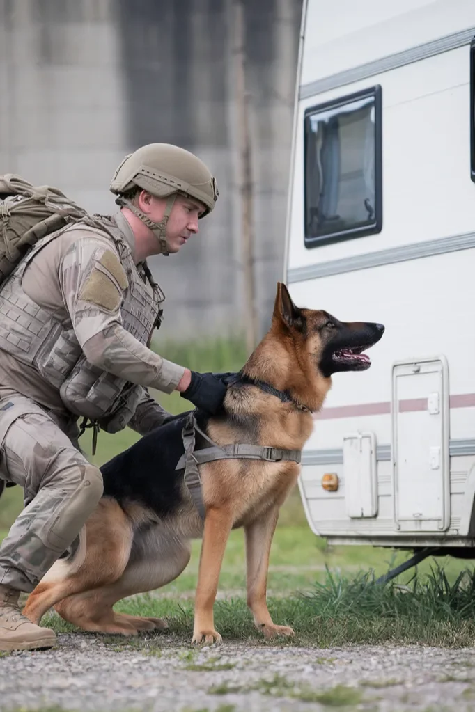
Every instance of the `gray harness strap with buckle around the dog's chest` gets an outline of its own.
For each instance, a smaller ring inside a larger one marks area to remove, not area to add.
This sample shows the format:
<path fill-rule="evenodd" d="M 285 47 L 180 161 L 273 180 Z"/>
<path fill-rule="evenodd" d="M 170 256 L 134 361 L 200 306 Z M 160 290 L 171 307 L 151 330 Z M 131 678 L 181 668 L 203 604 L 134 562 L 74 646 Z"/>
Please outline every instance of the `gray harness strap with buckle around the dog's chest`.
<path fill-rule="evenodd" d="M 195 451 L 195 432 L 199 432 L 212 447 Z M 199 477 L 198 465 L 214 460 L 231 459 L 263 460 L 266 462 L 291 461 L 300 463 L 302 456 L 301 450 L 283 450 L 276 447 L 246 444 L 217 445 L 199 428 L 194 413 L 190 413 L 187 416 L 182 429 L 182 440 L 184 454 L 179 459 L 175 471 L 184 468 L 184 483 L 202 519 L 204 519 L 205 510 L 202 496 L 202 481 Z"/>

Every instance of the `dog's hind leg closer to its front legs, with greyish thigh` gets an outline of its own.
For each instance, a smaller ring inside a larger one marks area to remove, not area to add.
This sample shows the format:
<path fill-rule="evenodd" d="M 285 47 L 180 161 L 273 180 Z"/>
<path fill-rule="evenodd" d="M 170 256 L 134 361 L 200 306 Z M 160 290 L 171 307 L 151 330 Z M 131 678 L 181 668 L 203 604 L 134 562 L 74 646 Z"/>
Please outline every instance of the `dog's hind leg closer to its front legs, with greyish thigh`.
<path fill-rule="evenodd" d="M 117 613 L 113 606 L 127 596 L 151 591 L 173 581 L 189 562 L 187 541 L 169 538 L 159 526 L 135 533 L 130 561 L 122 576 L 98 589 L 69 596 L 56 605 L 64 619 L 88 631 L 134 634 L 163 630 L 160 618 Z"/>

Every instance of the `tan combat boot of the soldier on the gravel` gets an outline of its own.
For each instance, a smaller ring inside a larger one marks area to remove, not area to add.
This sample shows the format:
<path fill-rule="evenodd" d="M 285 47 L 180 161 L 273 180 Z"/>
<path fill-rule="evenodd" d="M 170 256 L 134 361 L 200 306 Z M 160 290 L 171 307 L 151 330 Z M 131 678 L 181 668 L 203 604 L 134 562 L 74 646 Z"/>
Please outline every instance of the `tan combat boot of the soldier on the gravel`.
<path fill-rule="evenodd" d="M 56 635 L 40 628 L 21 612 L 20 592 L 0 584 L 0 650 L 38 650 L 52 648 Z"/>

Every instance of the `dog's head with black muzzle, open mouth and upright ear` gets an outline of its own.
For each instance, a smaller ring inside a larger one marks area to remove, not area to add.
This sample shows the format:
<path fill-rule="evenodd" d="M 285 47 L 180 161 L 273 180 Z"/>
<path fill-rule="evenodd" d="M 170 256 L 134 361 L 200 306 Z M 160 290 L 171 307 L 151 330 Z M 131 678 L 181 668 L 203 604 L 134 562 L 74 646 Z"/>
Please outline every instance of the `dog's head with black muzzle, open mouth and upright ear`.
<path fill-rule="evenodd" d="M 371 361 L 364 352 L 385 331 L 382 324 L 345 323 L 323 310 L 300 308 L 280 282 L 273 323 L 281 333 L 291 337 L 301 359 L 310 359 L 312 368 L 325 378 L 338 371 L 367 370 Z"/>

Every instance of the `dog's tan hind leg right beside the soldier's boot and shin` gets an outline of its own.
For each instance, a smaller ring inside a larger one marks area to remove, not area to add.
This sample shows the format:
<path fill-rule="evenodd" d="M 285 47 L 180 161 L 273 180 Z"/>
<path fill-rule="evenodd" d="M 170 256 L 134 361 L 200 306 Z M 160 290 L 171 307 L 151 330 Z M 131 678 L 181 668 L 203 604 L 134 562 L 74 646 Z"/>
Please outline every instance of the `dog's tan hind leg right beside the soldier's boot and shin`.
<path fill-rule="evenodd" d="M 80 533 L 78 551 L 53 564 L 28 596 L 24 614 L 38 624 L 63 598 L 118 580 L 129 560 L 132 538 L 127 514 L 115 500 L 101 499 Z"/>

